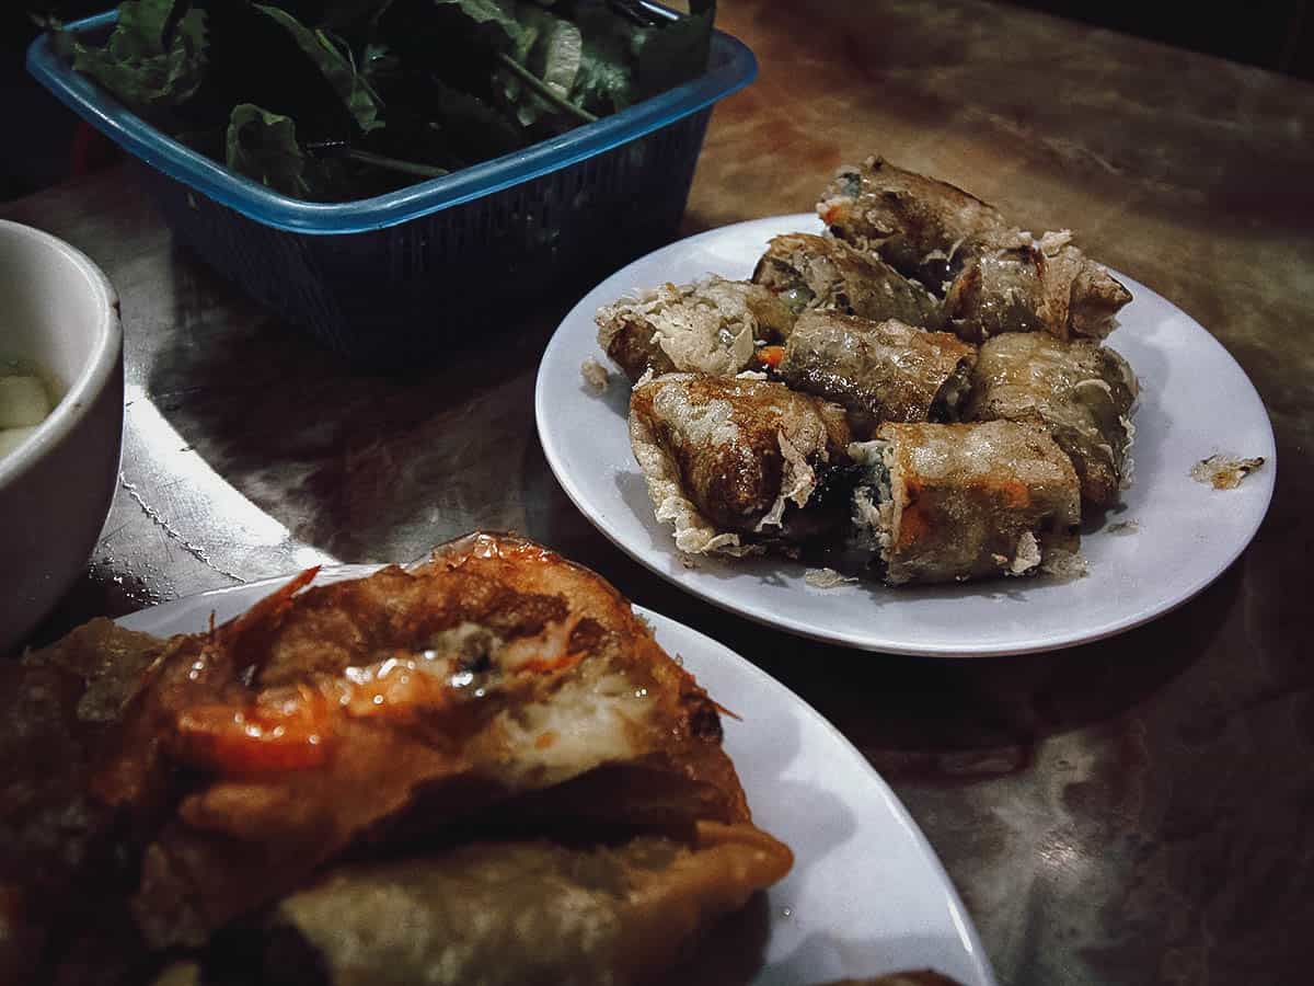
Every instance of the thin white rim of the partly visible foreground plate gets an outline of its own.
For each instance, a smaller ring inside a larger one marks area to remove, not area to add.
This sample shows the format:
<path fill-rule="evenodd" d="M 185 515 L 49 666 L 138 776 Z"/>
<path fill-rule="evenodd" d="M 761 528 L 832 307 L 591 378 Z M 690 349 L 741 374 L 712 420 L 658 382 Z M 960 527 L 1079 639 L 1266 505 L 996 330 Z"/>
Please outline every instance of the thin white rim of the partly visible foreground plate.
<path fill-rule="evenodd" d="M 359 578 L 372 575 L 386 564 L 339 564 L 339 565 L 311 565 L 315 568 L 317 573 L 311 585 L 330 585 L 332 582 L 344 581 L 348 578 Z M 305 571 L 305 569 L 301 569 Z M 255 596 L 250 605 L 254 605 L 259 598 L 267 594 L 264 590 L 277 589 L 280 585 L 285 585 L 290 578 L 296 577 L 296 572 L 285 573 L 280 576 L 269 576 L 265 578 L 252 580 L 250 582 L 239 582 L 237 585 L 225 585 L 214 589 L 205 589 L 198 593 L 192 593 L 189 596 L 181 596 L 175 599 L 168 599 L 151 606 L 145 606 L 142 609 L 134 610 L 131 613 L 124 614 L 114 618 L 114 623 L 125 630 L 131 630 L 137 632 L 152 632 L 146 630 L 150 624 L 150 617 L 160 615 L 162 611 L 168 610 L 181 610 L 188 603 L 196 603 L 201 599 L 213 599 L 221 597 L 233 596 Z M 600 577 L 600 576 L 599 576 Z M 859 770 L 862 777 L 867 784 L 872 786 L 872 793 L 879 794 L 880 802 L 884 805 L 886 810 L 890 812 L 891 820 L 903 828 L 912 839 L 921 861 L 929 868 L 930 874 L 936 880 L 936 893 L 943 899 L 949 908 L 949 918 L 954 929 L 958 935 L 958 945 L 966 956 L 967 962 L 971 965 L 976 973 L 978 982 L 980 986 L 996 986 L 997 981 L 995 978 L 995 970 L 989 961 L 989 953 L 986 951 L 984 944 L 980 940 L 980 933 L 976 928 L 976 923 L 972 919 L 971 912 L 963 903 L 962 895 L 958 893 L 958 887 L 954 885 L 953 878 L 945 869 L 943 861 L 941 861 L 940 855 L 936 848 L 930 844 L 926 833 L 922 831 L 921 826 L 908 811 L 908 807 L 903 803 L 895 790 L 890 786 L 880 772 L 863 756 L 862 751 L 854 745 L 854 743 L 845 736 L 834 723 L 832 723 L 827 716 L 824 716 L 811 702 L 794 692 L 788 685 L 782 682 L 779 678 L 774 677 L 765 669 L 759 668 L 757 664 L 750 661 L 744 655 L 735 651 L 732 647 L 723 644 L 714 636 L 704 634 L 703 631 L 682 623 L 678 619 L 668 617 L 662 613 L 652 610 L 646 606 L 640 606 L 639 603 L 628 601 L 628 605 L 644 619 L 652 628 L 654 635 L 660 628 L 666 630 L 674 635 L 683 635 L 690 642 L 692 642 L 708 660 L 724 661 L 729 668 L 732 668 L 737 674 L 744 674 L 749 678 L 756 678 L 758 684 L 765 686 L 769 692 L 774 693 L 783 703 L 794 706 L 800 714 L 807 716 L 815 727 L 819 727 L 821 734 L 833 744 L 836 744 L 836 752 L 846 756 Z M 204 610 L 204 607 L 202 607 Z M 665 649 L 665 648 L 664 648 Z M 674 655 L 673 655 L 674 657 Z M 746 791 L 746 794 L 750 794 Z M 766 968 L 763 966 L 763 970 Z"/>

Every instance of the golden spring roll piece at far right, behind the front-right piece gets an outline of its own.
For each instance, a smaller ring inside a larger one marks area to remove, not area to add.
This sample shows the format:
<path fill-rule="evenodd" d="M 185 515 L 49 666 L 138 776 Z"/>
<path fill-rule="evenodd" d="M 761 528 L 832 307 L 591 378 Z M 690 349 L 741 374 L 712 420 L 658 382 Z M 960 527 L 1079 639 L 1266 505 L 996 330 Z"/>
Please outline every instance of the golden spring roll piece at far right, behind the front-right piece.
<path fill-rule="evenodd" d="M 980 348 L 968 421 L 1039 421 L 1072 459 L 1081 496 L 1118 498 L 1131 473 L 1137 376 L 1117 352 L 1049 335 L 1000 335 Z"/>

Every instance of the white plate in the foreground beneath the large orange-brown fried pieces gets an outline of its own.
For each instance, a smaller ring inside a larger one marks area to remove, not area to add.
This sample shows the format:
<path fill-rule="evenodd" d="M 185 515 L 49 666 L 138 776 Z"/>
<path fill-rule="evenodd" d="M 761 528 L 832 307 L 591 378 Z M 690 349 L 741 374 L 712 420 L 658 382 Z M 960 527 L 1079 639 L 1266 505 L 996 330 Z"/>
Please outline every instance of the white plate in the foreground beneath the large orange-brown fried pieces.
<path fill-rule="evenodd" d="M 372 571 L 325 569 L 317 584 Z M 218 589 L 118 622 L 156 635 L 200 632 L 212 613 L 217 622 L 230 619 L 284 581 Z M 724 718 L 725 749 L 753 820 L 795 853 L 794 870 L 766 894 L 765 961 L 754 986 L 920 968 L 991 986 L 989 962 L 940 860 L 863 756 L 816 710 L 735 652 L 656 613 L 636 611 L 712 697 L 742 716 Z"/>

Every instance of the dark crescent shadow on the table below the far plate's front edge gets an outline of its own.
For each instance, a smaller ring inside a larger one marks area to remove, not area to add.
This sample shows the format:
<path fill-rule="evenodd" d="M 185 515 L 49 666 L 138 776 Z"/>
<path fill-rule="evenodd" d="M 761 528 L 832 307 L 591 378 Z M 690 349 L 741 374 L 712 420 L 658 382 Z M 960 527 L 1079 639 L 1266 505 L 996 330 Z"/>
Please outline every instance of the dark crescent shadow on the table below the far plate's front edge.
<path fill-rule="evenodd" d="M 887 780 L 962 784 L 1024 772 L 1046 736 L 1117 718 L 1169 685 L 1238 605 L 1244 564 L 1243 556 L 1166 617 L 1066 651 L 904 657 L 819 648 L 756 627 L 723 640 L 815 705 L 859 749 L 879 752 Z"/>

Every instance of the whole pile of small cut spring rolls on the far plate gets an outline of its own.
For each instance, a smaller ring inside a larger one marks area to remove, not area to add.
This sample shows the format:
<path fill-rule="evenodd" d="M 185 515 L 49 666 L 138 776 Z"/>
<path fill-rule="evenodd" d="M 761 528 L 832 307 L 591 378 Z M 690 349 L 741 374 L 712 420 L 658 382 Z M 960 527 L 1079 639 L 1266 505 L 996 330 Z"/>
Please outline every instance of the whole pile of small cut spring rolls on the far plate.
<path fill-rule="evenodd" d="M 1100 340 L 1131 294 L 1067 230 L 880 158 L 817 212 L 829 234 L 771 238 L 752 285 L 599 309 L 677 548 L 805 555 L 817 588 L 855 581 L 853 546 L 892 585 L 1084 573 L 1083 501 L 1130 484 L 1138 383 Z"/>

